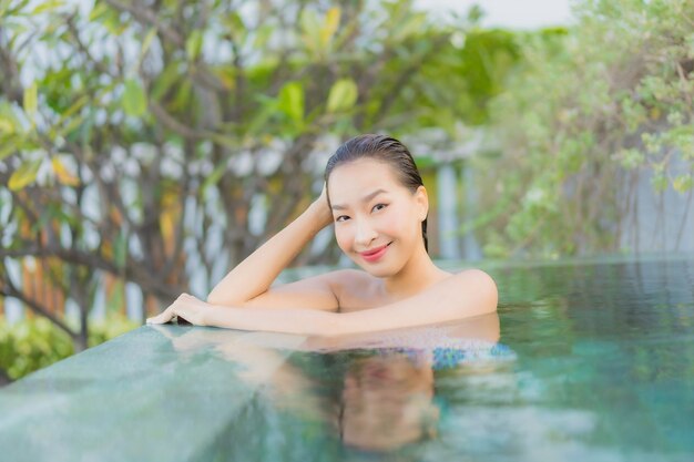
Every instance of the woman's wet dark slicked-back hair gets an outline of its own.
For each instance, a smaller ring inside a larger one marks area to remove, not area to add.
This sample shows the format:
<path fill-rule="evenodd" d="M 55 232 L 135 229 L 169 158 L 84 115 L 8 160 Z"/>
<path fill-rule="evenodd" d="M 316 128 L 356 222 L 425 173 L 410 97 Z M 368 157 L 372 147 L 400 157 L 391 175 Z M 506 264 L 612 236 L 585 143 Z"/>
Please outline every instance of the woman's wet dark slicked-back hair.
<path fill-rule="evenodd" d="M 390 136 L 367 134 L 346 141 L 330 156 L 325 167 L 326 188 L 335 167 L 360 158 L 371 158 L 390 165 L 400 184 L 411 191 L 412 194 L 419 186 L 423 186 L 417 164 L 409 150 L 402 143 Z M 329 204 L 330 197 L 328 196 Z M 427 218 L 421 222 L 421 237 L 425 242 L 425 249 L 429 251 Z"/>

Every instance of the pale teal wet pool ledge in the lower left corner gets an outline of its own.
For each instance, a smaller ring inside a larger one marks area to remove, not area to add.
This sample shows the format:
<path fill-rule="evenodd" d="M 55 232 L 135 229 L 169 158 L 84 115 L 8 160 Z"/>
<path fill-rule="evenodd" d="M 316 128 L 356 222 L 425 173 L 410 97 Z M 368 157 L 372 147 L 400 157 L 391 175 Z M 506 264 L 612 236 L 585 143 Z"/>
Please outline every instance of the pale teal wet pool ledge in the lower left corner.
<path fill-rule="evenodd" d="M 254 390 L 234 363 L 185 355 L 145 326 L 6 387 L 1 459 L 202 460 Z"/>

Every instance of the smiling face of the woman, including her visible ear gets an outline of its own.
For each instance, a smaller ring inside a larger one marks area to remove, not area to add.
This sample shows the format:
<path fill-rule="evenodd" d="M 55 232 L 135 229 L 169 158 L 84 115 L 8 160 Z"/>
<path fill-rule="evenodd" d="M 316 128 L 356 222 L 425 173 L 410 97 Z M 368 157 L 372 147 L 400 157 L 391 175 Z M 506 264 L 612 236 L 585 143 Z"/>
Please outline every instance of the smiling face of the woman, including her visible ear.
<path fill-rule="evenodd" d="M 390 165 L 370 158 L 343 164 L 330 174 L 328 195 L 338 246 L 369 274 L 396 275 L 415 251 L 425 251 L 426 189 L 412 194 Z"/>

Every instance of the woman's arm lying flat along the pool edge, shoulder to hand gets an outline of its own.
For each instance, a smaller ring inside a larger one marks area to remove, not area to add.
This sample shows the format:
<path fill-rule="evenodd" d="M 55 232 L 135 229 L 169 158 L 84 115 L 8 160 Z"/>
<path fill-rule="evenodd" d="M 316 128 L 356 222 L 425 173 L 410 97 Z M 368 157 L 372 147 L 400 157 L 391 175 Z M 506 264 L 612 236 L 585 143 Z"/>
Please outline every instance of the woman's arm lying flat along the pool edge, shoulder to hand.
<path fill-rule="evenodd" d="M 234 308 L 210 305 L 183 295 L 149 324 L 180 316 L 197 326 L 239 330 L 341 336 L 440 324 L 497 310 L 497 286 L 484 271 L 470 269 L 427 290 L 382 307 L 339 314 L 309 309 Z"/>

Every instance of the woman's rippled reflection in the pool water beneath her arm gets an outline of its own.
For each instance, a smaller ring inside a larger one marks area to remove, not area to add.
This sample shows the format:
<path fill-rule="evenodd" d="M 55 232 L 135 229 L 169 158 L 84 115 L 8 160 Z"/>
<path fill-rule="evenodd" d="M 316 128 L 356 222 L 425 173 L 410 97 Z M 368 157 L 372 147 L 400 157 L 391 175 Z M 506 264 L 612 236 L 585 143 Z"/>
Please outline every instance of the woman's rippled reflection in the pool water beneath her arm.
<path fill-rule="evenodd" d="M 496 314 L 338 339 L 206 328 L 177 335 L 183 328 L 152 328 L 184 359 L 212 352 L 238 366 L 236 377 L 262 390 L 263 401 L 294 425 L 313 422 L 344 448 L 375 452 L 436 438 L 441 415 L 437 371 L 473 363 L 484 373 L 484 362 L 504 352 L 497 343 Z"/>

